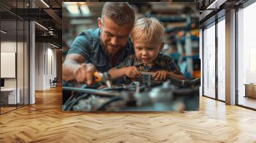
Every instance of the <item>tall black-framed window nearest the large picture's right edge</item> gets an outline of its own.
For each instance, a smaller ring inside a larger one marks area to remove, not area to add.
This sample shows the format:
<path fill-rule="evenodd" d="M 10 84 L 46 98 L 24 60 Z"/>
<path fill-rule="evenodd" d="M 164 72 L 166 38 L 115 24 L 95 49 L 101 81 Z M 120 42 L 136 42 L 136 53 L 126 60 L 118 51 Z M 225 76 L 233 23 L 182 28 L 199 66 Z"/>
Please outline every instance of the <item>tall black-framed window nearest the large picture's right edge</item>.
<path fill-rule="evenodd" d="M 203 29 L 203 95 L 225 102 L 225 16 Z"/>

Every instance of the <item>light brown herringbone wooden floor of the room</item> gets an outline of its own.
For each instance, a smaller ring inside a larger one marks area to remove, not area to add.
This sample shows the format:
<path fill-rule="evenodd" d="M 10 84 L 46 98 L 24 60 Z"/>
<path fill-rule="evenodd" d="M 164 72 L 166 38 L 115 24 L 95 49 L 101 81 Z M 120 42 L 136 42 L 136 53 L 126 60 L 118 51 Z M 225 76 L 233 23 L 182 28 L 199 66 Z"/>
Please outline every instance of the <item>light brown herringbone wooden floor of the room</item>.
<path fill-rule="evenodd" d="M 256 112 L 200 98 L 200 111 L 61 111 L 61 88 L 0 116 L 0 142 L 256 142 Z"/>

